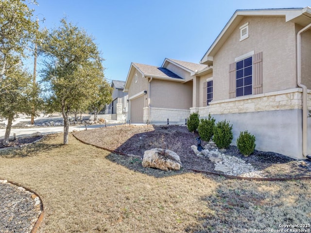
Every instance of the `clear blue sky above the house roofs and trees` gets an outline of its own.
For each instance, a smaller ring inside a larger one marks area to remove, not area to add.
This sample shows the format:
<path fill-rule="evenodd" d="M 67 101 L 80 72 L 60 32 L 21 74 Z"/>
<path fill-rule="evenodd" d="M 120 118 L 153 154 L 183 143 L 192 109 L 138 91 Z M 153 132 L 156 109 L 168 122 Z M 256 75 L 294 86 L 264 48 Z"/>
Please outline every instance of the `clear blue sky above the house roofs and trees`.
<path fill-rule="evenodd" d="M 237 9 L 297 8 L 310 0 L 37 0 L 40 27 L 62 17 L 95 37 L 105 77 L 126 80 L 131 62 L 161 66 L 165 58 L 199 63 Z"/>

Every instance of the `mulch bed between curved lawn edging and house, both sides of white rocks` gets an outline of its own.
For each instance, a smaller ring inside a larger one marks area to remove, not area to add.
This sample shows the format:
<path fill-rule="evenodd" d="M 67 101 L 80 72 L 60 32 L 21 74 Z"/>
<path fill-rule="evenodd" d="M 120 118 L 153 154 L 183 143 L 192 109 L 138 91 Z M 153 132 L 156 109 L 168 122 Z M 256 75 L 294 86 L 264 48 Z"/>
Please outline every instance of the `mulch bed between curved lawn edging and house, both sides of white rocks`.
<path fill-rule="evenodd" d="M 127 155 L 142 157 L 145 150 L 167 148 L 176 152 L 183 168 L 214 171 L 214 163 L 198 157 L 190 148 L 196 145 L 197 133 L 190 133 L 185 126 L 114 126 L 75 133 L 79 139 L 92 145 L 107 148 Z M 207 145 L 207 142 L 202 142 Z M 241 158 L 260 170 L 266 178 L 311 177 L 311 162 L 304 163 L 275 152 L 255 150 L 248 157 L 242 155 L 237 147 L 230 146 L 224 151 L 227 155 Z"/>

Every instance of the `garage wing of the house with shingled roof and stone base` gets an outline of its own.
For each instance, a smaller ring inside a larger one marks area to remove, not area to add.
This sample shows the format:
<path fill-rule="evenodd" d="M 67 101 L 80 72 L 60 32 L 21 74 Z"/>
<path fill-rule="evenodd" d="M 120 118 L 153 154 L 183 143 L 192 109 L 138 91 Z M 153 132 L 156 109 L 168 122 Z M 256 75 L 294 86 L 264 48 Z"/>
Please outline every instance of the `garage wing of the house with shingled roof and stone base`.
<path fill-rule="evenodd" d="M 162 67 L 132 63 L 124 91 L 133 123 L 185 123 L 192 105 L 192 76 L 206 65 L 165 59 Z"/>

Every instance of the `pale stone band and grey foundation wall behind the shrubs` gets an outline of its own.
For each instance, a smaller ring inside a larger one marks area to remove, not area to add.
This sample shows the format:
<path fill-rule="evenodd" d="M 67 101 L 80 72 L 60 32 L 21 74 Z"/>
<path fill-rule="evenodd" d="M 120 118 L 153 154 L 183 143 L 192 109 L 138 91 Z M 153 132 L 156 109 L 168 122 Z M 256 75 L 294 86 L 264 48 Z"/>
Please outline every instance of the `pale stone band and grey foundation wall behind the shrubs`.
<path fill-rule="evenodd" d="M 308 90 L 308 108 L 311 109 L 311 91 Z M 207 107 L 191 108 L 200 118 L 210 113 L 216 121 L 229 120 L 233 125 L 234 139 L 241 131 L 248 130 L 256 136 L 256 149 L 274 151 L 292 157 L 305 159 L 302 155 L 302 89 L 245 96 L 241 98 L 214 101 Z M 311 118 L 308 118 L 308 129 Z M 311 153 L 311 133 L 308 130 L 308 148 Z"/>

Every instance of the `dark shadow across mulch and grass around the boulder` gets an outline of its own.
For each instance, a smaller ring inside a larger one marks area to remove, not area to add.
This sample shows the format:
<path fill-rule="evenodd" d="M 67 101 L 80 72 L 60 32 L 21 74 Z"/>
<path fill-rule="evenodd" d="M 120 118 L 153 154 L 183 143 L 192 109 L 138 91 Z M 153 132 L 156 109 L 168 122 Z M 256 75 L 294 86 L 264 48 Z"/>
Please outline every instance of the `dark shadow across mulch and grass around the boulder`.
<path fill-rule="evenodd" d="M 196 141 L 195 136 L 195 134 L 190 133 L 187 130 L 187 127 L 176 125 L 154 126 L 154 131 L 136 133 L 115 150 L 116 152 L 133 156 L 112 153 L 106 158 L 114 163 L 125 166 L 128 169 L 154 176 L 156 178 L 174 176 L 189 172 L 187 169 L 187 167 L 189 167 L 189 161 L 192 161 L 191 163 L 199 162 L 194 161 L 197 159 L 197 156 L 190 148 Z M 176 171 L 163 171 L 156 168 L 143 167 L 141 162 L 144 151 L 154 148 L 173 150 L 179 155 L 183 167 Z"/>

